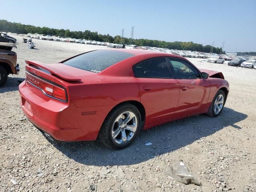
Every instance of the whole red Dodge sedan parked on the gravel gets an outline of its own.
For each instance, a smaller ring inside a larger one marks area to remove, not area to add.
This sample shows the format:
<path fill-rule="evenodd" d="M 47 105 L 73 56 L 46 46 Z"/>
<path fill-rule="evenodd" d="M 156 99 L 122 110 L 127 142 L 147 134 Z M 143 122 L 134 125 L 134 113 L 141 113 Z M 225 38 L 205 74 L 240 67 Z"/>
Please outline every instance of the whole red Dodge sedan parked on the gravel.
<path fill-rule="evenodd" d="M 148 50 L 95 50 L 57 64 L 26 61 L 19 86 L 26 117 L 51 140 L 99 139 L 121 149 L 140 130 L 223 110 L 221 72 Z"/>

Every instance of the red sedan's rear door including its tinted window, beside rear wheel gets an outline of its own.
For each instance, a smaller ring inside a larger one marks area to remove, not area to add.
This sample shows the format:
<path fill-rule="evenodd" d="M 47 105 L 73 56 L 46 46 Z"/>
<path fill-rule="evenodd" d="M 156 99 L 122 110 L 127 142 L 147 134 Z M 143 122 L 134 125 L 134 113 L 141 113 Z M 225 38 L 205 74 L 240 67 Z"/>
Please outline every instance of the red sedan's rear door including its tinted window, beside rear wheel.
<path fill-rule="evenodd" d="M 165 57 L 145 60 L 133 67 L 139 83 L 140 102 L 146 110 L 145 125 L 171 119 L 180 95 L 180 86 Z"/>

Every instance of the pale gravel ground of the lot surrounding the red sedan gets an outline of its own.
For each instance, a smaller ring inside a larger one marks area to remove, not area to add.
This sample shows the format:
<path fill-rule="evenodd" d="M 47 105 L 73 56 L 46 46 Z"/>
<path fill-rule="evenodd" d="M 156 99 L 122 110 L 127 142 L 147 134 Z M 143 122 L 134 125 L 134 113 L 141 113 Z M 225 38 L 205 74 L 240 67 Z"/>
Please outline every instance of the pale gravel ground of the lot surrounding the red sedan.
<path fill-rule="evenodd" d="M 22 114 L 18 81 L 24 80 L 25 60 L 54 63 L 100 46 L 33 41 L 36 50 L 18 44 L 21 72 L 0 88 L 1 192 L 256 191 L 256 70 L 190 59 L 199 68 L 223 72 L 230 84 L 218 118 L 198 115 L 152 128 L 120 151 L 97 141 L 59 144 Z M 180 159 L 203 186 L 165 176 L 165 169 Z"/>

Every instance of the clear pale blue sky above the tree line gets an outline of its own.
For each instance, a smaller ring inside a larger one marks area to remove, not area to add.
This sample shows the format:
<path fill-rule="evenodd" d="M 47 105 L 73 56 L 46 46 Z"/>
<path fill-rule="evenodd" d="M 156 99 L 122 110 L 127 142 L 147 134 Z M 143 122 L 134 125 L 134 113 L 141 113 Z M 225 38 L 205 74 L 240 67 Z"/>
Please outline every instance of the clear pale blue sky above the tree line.
<path fill-rule="evenodd" d="M 33 2 L 33 3 L 32 3 Z M 195 42 L 256 52 L 256 0 L 20 0 L 1 2 L 0 19 L 112 36 Z M 9 7 L 9 8 L 8 8 Z M 11 9 L 10 9 L 11 7 Z M 11 14 L 10 14 L 11 12 Z"/>

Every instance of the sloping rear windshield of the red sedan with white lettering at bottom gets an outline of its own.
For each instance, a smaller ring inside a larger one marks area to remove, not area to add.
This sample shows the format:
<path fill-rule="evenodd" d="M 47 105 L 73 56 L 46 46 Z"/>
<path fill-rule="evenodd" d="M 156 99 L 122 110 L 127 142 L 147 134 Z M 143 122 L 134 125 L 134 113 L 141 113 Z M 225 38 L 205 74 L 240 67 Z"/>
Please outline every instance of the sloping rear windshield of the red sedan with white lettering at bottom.
<path fill-rule="evenodd" d="M 76 56 L 67 60 L 63 64 L 86 71 L 100 73 L 102 70 L 112 66 L 113 64 L 132 56 L 134 56 L 134 54 L 122 51 L 96 50 Z"/>

